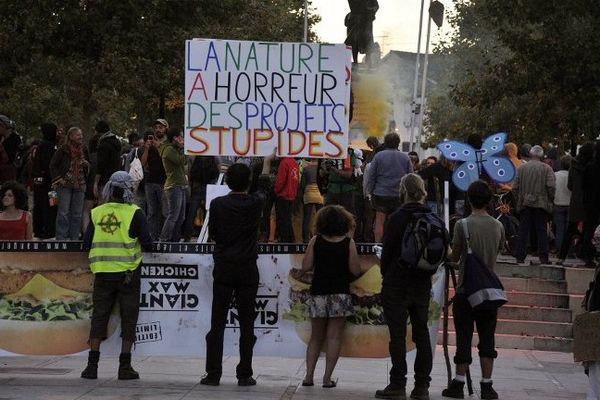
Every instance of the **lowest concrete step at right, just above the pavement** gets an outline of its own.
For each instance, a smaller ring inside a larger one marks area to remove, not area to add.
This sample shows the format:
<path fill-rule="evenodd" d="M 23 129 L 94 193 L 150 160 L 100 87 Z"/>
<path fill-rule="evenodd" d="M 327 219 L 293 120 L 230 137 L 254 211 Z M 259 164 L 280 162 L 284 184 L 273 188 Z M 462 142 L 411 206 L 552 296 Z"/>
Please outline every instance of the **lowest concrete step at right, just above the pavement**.
<path fill-rule="evenodd" d="M 443 335 L 440 331 L 438 335 L 438 344 L 443 344 Z M 559 351 L 571 353 L 573 351 L 573 339 L 563 337 L 545 337 L 545 336 L 520 336 L 508 334 L 496 334 L 496 347 L 499 349 L 521 349 L 521 350 L 541 350 L 541 351 Z M 477 333 L 473 333 L 473 346 L 479 342 Z M 456 346 L 456 333 L 448 332 L 448 344 Z M 475 356 L 476 352 L 473 353 Z"/>

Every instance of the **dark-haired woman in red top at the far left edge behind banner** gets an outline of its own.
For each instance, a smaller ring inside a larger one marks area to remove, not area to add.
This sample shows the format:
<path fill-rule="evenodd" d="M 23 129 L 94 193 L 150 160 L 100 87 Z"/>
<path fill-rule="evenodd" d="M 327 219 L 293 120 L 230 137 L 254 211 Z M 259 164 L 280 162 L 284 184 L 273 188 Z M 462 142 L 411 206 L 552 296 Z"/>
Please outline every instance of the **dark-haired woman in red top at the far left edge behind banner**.
<path fill-rule="evenodd" d="M 32 240 L 33 223 L 23 185 L 16 181 L 4 182 L 0 201 L 0 240 Z"/>

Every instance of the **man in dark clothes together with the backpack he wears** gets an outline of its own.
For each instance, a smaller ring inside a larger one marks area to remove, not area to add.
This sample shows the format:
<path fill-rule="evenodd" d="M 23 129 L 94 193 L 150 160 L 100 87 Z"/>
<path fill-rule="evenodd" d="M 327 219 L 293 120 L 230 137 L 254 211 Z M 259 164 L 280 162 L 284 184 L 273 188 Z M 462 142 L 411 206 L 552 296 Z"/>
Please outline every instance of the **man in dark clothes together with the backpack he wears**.
<path fill-rule="evenodd" d="M 417 348 L 411 399 L 428 400 L 432 349 L 427 327 L 431 276 L 446 257 L 448 232 L 424 203 L 425 184 L 414 173 L 400 181 L 401 207 L 385 226 L 381 254 L 381 301 L 390 331 L 390 383 L 375 392 L 379 399 L 406 399 L 406 327 L 410 316 Z"/>

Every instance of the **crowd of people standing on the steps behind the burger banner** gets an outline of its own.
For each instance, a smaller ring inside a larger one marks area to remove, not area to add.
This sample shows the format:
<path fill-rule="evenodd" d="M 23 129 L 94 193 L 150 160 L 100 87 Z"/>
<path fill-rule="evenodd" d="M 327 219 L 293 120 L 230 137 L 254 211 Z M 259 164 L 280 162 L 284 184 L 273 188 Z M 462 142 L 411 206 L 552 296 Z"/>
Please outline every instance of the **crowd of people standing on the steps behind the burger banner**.
<path fill-rule="evenodd" d="M 216 183 L 230 165 L 244 163 L 252 170 L 253 192 L 263 164 L 262 157 L 186 156 L 182 129 L 170 127 L 163 118 L 143 135 L 130 133 L 127 140 L 105 121 L 96 123 L 87 141 L 77 126 L 61 129 L 44 123 L 40 131 L 41 139 L 24 141 L 15 123 L 0 115 L 0 184 L 3 193 L 8 190 L 15 198 L 2 205 L 4 239 L 81 239 L 91 209 L 103 201 L 102 187 L 113 172 L 124 170 L 143 176 L 134 181 L 135 203 L 147 216 L 152 239 L 194 240 L 204 221 L 207 185 Z M 316 212 L 323 205 L 341 205 L 354 215 L 354 240 L 379 243 L 387 217 L 399 207 L 400 179 L 409 172 L 424 179 L 432 211 L 442 215 L 443 183 L 448 182 L 453 220 L 468 215 L 465 193 L 452 184 L 455 163 L 443 156 L 421 161 L 416 152 L 399 151 L 399 141 L 394 133 L 382 143 L 369 137 L 366 148 L 349 148 L 343 160 L 276 159 L 269 171 L 273 185 L 259 241 L 308 243 Z M 480 148 L 482 140 L 472 135 L 467 142 Z M 506 144 L 516 177 L 508 184 L 487 180 L 496 194 L 489 211 L 505 226 L 505 251 L 517 262 L 525 265 L 532 253 L 547 263 L 554 253 L 559 263 L 575 256 L 595 265 L 599 148 L 587 142 L 577 154 L 561 154 L 556 147 L 544 154 L 539 145 Z"/>

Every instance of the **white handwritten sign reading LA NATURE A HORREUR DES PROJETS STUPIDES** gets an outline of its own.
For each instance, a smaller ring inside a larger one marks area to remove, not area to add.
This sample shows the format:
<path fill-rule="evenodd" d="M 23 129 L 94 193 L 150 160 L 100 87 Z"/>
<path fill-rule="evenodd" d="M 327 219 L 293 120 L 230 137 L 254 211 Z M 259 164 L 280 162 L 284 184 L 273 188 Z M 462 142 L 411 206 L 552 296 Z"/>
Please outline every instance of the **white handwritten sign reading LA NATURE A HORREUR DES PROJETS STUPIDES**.
<path fill-rule="evenodd" d="M 345 158 L 350 66 L 343 44 L 188 40 L 186 154 Z"/>

